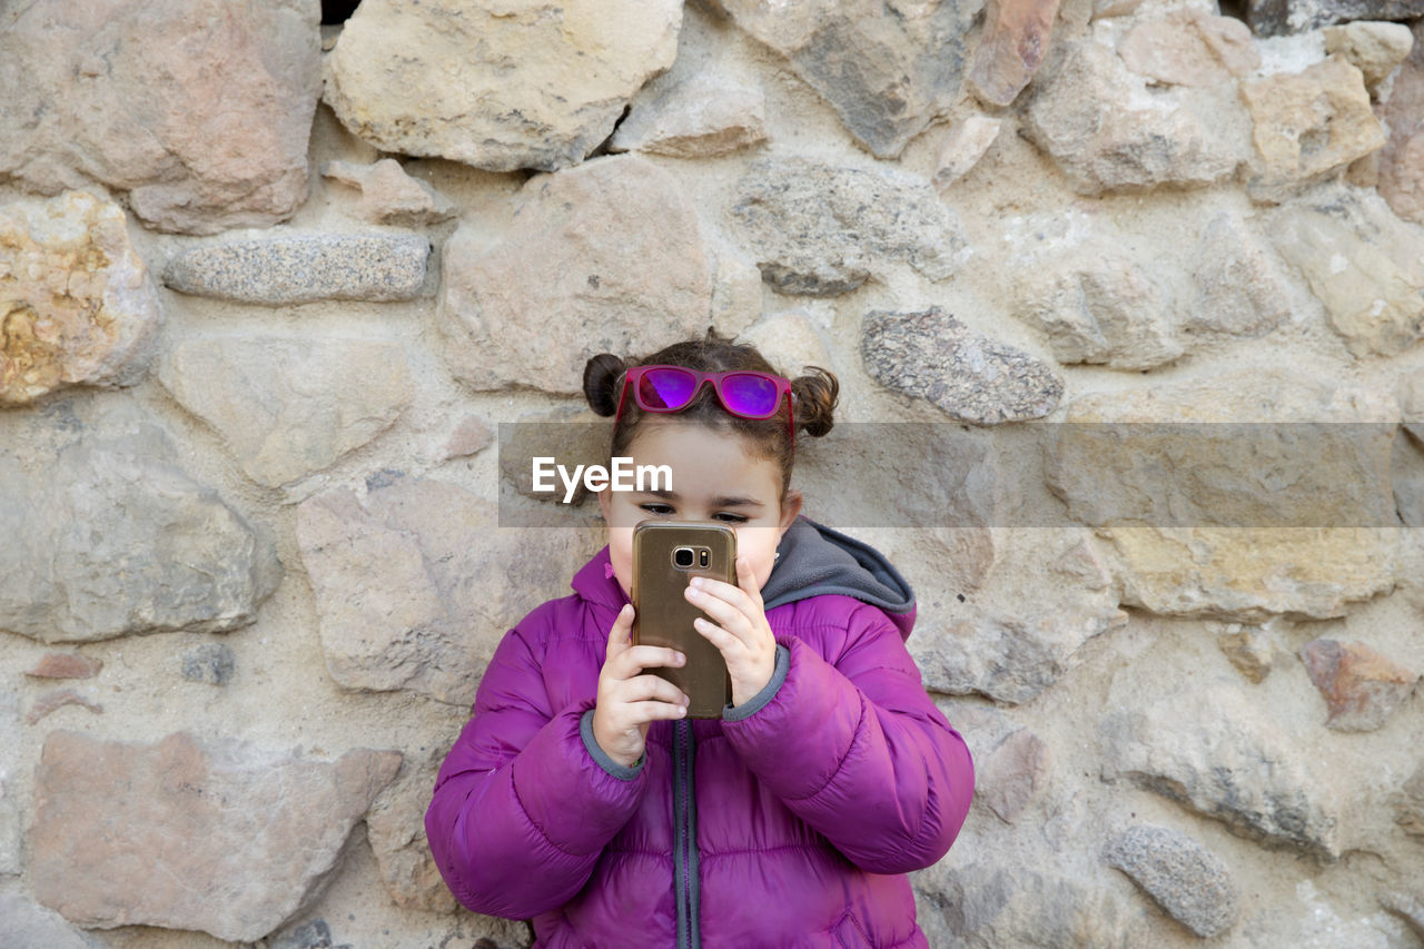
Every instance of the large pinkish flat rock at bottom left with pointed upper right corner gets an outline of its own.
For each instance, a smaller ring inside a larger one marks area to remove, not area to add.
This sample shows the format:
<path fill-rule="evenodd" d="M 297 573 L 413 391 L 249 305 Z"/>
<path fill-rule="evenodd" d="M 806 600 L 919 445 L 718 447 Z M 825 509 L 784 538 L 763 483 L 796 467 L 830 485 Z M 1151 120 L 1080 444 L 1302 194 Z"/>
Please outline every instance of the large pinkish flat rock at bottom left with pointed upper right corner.
<path fill-rule="evenodd" d="M 83 926 L 201 929 L 252 942 L 330 876 L 400 752 L 337 761 L 50 732 L 36 771 L 30 885 Z"/>

